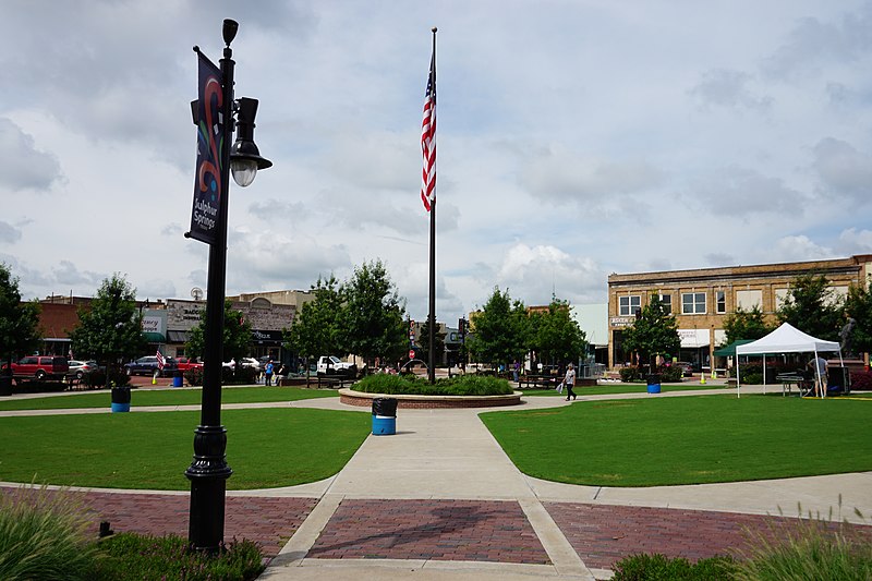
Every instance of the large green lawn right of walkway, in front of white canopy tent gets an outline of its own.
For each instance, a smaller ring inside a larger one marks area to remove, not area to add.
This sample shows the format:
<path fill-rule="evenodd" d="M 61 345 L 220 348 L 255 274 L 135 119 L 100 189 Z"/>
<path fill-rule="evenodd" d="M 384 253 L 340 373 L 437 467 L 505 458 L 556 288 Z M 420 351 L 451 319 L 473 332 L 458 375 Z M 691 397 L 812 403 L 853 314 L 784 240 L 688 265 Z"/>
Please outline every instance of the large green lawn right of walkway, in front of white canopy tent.
<path fill-rule="evenodd" d="M 589 401 L 482 420 L 518 468 L 596 486 L 872 470 L 872 401 L 689 396 Z"/>

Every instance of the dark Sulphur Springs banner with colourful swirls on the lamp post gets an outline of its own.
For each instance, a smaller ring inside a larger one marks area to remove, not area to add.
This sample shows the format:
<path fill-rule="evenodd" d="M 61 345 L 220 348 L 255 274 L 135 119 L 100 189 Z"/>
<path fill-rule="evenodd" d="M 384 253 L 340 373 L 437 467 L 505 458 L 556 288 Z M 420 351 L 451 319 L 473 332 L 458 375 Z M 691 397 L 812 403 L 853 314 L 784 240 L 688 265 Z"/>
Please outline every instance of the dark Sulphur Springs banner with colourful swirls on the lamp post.
<path fill-rule="evenodd" d="M 199 83 L 197 100 L 197 167 L 194 178 L 194 209 L 191 238 L 215 244 L 218 235 L 218 208 L 221 201 L 221 71 L 197 50 Z"/>

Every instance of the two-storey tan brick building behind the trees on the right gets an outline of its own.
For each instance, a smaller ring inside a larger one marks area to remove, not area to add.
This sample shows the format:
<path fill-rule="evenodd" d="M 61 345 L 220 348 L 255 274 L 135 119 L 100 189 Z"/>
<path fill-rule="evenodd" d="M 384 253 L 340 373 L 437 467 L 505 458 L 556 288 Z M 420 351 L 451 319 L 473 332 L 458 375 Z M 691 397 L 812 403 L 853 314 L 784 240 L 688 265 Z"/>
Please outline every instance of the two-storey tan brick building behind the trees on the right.
<path fill-rule="evenodd" d="M 708 368 L 714 350 L 726 338 L 724 319 L 737 307 L 760 307 L 770 323 L 784 303 L 790 285 L 803 275 L 824 275 L 829 288 L 846 295 L 851 285 L 869 286 L 872 255 L 850 258 L 759 266 L 728 266 L 608 277 L 608 365 L 621 366 L 630 354 L 621 348 L 625 327 L 635 320 L 635 311 L 652 295 L 676 316 L 681 337 L 679 361 Z"/>

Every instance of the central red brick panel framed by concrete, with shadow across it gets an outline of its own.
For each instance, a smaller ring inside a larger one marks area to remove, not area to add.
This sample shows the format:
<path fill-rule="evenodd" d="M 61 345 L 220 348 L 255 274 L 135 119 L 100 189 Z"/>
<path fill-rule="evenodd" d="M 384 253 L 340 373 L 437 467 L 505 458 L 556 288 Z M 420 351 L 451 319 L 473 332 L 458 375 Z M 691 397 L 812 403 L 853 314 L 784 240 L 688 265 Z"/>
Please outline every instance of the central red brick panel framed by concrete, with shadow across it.
<path fill-rule="evenodd" d="M 343 500 L 308 558 L 549 564 L 516 501 Z"/>

